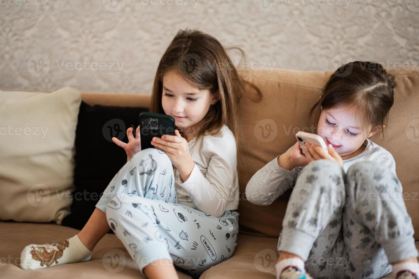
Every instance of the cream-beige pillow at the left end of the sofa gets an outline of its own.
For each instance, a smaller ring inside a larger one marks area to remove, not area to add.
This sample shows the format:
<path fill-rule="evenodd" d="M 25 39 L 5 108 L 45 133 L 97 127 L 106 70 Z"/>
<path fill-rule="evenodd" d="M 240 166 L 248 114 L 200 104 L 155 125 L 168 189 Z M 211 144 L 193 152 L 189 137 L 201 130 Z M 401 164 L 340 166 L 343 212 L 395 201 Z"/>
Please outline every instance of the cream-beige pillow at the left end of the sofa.
<path fill-rule="evenodd" d="M 0 90 L 0 219 L 57 224 L 70 213 L 81 93 Z"/>

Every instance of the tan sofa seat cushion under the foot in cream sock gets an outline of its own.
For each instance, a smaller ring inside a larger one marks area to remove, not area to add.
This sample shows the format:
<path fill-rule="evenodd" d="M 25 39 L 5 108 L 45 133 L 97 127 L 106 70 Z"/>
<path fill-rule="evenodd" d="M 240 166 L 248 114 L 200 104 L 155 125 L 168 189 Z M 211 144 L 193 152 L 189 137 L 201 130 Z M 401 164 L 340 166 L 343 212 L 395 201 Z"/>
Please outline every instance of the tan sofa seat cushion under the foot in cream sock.
<path fill-rule="evenodd" d="M 70 238 L 79 231 L 57 224 L 17 223 L 0 221 L 0 274 L 1 278 L 143 278 L 122 242 L 116 235 L 107 233 L 93 249 L 90 261 L 60 264 L 37 270 L 20 268 L 23 247 L 29 244 L 45 244 Z M 191 279 L 177 271 L 179 279 Z"/>

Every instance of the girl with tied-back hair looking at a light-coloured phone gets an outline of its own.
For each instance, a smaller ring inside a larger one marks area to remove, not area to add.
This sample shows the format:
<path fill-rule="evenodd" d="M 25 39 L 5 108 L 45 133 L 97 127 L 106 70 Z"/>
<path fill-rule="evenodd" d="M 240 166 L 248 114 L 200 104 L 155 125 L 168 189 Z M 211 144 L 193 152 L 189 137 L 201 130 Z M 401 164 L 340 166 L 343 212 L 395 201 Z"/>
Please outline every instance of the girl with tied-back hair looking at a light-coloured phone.
<path fill-rule="evenodd" d="M 298 142 L 256 172 L 247 199 L 269 205 L 292 193 L 279 235 L 280 279 L 418 279 L 414 229 L 393 156 L 368 139 L 383 131 L 394 76 L 374 62 L 342 65 L 309 116 L 328 146 Z M 263 183 L 260 183 L 263 182 Z M 310 274 L 310 275 L 309 275 Z"/>

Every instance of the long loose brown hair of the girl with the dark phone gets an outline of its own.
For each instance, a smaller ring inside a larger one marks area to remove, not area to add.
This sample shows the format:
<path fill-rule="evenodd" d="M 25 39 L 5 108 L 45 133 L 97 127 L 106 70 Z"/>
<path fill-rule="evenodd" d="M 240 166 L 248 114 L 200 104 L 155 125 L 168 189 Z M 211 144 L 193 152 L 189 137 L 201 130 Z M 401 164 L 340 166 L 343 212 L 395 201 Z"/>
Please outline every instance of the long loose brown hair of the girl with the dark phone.
<path fill-rule="evenodd" d="M 238 49 L 236 47 L 231 47 Z M 239 49 L 243 55 L 243 51 Z M 179 30 L 157 67 L 150 111 L 163 113 L 162 92 L 163 77 L 176 70 L 181 76 L 199 90 L 208 90 L 210 94 L 218 92 L 220 100 L 209 107 L 207 114 L 200 121 L 196 130 L 199 138 L 217 134 L 226 124 L 233 132 L 237 148 L 241 146 L 237 104 L 245 95 L 245 82 L 235 69 L 226 49 L 213 36 L 198 30 Z M 259 89 L 251 84 L 260 94 Z"/>

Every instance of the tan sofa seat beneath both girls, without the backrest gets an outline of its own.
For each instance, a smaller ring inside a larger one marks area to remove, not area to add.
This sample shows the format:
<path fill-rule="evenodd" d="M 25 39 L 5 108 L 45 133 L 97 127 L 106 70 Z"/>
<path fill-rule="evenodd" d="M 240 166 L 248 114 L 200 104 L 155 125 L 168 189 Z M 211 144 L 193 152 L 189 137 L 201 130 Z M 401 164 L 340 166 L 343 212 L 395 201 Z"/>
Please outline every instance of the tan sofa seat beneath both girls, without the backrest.
<path fill-rule="evenodd" d="M 23 247 L 28 244 L 44 244 L 67 239 L 78 230 L 56 224 L 18 223 L 0 221 L 0 274 L 2 278 L 145 278 L 134 265 L 122 242 L 114 234 L 107 233 L 93 249 L 90 261 L 62 264 L 47 269 L 22 270 L 19 267 Z M 28 233 L 30 232 L 30 233 Z M 212 266 L 201 279 L 253 279 L 275 278 L 278 238 L 258 237 L 239 233 L 233 256 Z M 415 242 L 419 250 L 419 241 Z M 177 271 L 180 279 L 192 277 Z M 386 276 L 385 278 L 391 278 Z"/>

